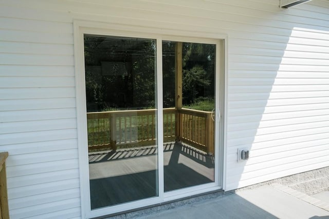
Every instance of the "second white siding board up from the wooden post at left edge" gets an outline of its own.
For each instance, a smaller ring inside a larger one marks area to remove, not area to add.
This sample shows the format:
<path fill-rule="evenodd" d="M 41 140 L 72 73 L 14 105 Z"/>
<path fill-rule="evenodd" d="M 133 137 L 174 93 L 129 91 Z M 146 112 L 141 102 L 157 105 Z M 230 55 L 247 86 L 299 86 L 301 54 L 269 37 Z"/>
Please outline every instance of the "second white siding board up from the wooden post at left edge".
<path fill-rule="evenodd" d="M 0 146 L 52 140 L 64 140 L 70 138 L 77 138 L 77 129 L 23 132 L 20 133 L 18 136 L 16 133 L 2 134 L 0 135 Z"/>

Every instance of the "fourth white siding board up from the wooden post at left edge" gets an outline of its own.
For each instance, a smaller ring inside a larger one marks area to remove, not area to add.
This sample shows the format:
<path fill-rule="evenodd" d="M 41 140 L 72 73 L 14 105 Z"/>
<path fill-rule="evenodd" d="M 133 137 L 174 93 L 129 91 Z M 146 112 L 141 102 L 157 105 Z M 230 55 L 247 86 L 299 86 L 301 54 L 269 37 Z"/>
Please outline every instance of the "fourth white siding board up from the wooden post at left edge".
<path fill-rule="evenodd" d="M 63 118 L 76 118 L 76 117 L 77 117 L 77 110 L 75 108 L 4 111 L 0 113 L 0 121 L 3 123 L 38 121 L 38 120 L 56 120 Z"/>

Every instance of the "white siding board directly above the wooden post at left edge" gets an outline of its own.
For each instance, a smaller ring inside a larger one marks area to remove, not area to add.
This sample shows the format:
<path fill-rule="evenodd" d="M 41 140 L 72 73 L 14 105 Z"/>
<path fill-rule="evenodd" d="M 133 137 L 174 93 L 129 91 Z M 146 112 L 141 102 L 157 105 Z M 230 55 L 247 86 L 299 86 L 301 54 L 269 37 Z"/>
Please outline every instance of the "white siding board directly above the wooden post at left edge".
<path fill-rule="evenodd" d="M 0 150 L 2 151 L 10 150 L 10 155 L 19 155 L 19 154 L 76 149 L 78 147 L 77 145 L 78 145 L 77 139 L 68 139 L 68 140 L 55 140 L 55 141 L 47 141 L 47 142 L 23 143 L 23 144 L 15 144 L 15 145 L 3 145 L 0 147 Z M 8 165 L 12 166 L 12 164 L 10 164 L 10 160 L 7 163 L 7 166 Z"/>

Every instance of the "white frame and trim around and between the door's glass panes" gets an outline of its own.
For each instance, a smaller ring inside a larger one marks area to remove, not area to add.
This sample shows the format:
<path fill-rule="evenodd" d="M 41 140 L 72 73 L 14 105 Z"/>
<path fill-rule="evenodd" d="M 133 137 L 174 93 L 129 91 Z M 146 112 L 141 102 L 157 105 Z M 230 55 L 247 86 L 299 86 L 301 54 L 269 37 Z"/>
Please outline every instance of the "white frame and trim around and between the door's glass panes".
<path fill-rule="evenodd" d="M 166 32 L 166 34 L 163 34 Z M 140 37 L 156 39 L 157 41 L 157 123 L 162 124 L 162 41 L 177 41 L 191 43 L 216 44 L 216 76 L 215 76 L 215 182 L 188 187 L 184 189 L 163 192 L 163 127 L 158 125 L 158 174 L 159 174 L 159 196 L 146 198 L 131 203 L 124 203 L 111 207 L 100 209 L 90 209 L 90 190 L 89 190 L 89 168 L 88 168 L 88 140 L 87 140 L 87 120 L 86 120 L 86 93 L 85 93 L 85 69 L 84 69 L 84 34 L 111 35 L 125 37 Z M 186 35 L 192 37 L 185 37 Z M 117 24 L 108 24 L 100 22 L 74 21 L 74 50 L 75 50 L 75 76 L 76 76 L 76 103 L 77 103 L 77 125 L 78 125 L 78 151 L 79 151 L 79 171 L 80 171 L 80 193 L 81 193 L 81 215 L 82 218 L 97 217 L 112 214 L 121 211 L 127 211 L 140 207 L 150 206 L 166 201 L 173 201 L 177 198 L 184 198 L 204 192 L 222 189 L 224 187 L 225 174 L 225 148 L 226 141 L 226 113 L 224 103 L 226 100 L 226 60 L 227 54 L 227 35 L 218 35 L 214 33 L 181 33 L 172 30 L 141 28 L 134 26 L 125 26 Z M 224 58 L 223 58 L 224 57 Z M 219 65 L 219 67 L 218 67 Z M 223 116 L 224 115 L 224 116 Z M 220 119 L 221 118 L 221 119 Z M 220 131 L 218 131 L 220 130 Z"/>

